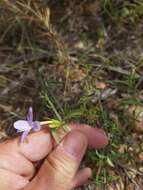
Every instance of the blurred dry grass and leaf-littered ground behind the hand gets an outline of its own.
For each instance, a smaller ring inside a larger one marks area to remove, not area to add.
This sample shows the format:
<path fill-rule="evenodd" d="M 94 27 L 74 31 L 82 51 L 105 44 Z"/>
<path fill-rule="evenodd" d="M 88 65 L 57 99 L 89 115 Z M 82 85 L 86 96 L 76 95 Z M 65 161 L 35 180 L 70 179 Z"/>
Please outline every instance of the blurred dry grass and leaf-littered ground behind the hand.
<path fill-rule="evenodd" d="M 38 119 L 103 128 L 82 190 L 142 190 L 143 1 L 1 0 L 0 139 L 33 106 Z"/>

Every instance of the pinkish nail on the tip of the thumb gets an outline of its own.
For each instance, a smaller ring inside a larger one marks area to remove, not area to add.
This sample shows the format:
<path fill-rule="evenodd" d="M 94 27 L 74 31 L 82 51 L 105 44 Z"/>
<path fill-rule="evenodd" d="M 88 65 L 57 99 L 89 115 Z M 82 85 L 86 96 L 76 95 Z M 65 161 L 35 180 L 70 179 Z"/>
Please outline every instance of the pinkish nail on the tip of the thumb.
<path fill-rule="evenodd" d="M 78 158 L 87 147 L 87 139 L 81 132 L 73 131 L 65 137 L 62 145 L 68 154 Z"/>

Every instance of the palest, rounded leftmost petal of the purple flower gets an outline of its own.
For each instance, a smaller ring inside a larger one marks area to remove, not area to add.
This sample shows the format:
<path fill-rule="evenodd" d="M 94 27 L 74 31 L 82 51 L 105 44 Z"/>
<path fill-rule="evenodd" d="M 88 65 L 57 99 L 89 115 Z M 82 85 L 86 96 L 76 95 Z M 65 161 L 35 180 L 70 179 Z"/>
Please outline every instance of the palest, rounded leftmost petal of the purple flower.
<path fill-rule="evenodd" d="M 14 128 L 18 130 L 18 132 L 31 130 L 31 126 L 25 120 L 18 120 L 14 122 Z"/>

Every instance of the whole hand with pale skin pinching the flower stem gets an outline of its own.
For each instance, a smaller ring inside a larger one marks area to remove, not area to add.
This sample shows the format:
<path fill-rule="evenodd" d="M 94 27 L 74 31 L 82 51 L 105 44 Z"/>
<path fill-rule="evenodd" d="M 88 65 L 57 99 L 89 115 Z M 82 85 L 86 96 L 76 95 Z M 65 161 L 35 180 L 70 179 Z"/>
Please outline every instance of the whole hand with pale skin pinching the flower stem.
<path fill-rule="evenodd" d="M 104 148 L 108 139 L 102 130 L 88 125 L 70 124 L 71 132 L 59 131 L 55 145 L 48 129 L 0 144 L 0 189 L 71 190 L 91 177 L 91 169 L 79 169 L 87 147 Z M 38 171 L 36 166 L 41 161 Z"/>

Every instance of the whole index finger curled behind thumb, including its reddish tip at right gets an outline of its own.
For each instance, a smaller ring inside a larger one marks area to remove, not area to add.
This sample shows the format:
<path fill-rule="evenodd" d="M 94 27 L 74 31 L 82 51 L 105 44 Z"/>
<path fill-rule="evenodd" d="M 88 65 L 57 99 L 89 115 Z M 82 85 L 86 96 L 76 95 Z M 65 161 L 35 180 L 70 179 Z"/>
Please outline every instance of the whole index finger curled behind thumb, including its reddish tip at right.
<path fill-rule="evenodd" d="M 91 148 L 104 148 L 108 143 L 108 138 L 104 131 L 98 128 L 90 127 L 85 124 L 70 124 L 71 130 L 79 130 L 87 137 L 88 145 Z M 58 131 L 62 140 L 66 133 L 63 130 Z M 20 153 L 28 160 L 35 162 L 45 158 L 53 148 L 53 139 L 49 129 L 43 129 L 34 132 L 27 137 L 27 141 L 19 144 L 19 138 L 3 143 L 3 149 L 8 154 Z M 2 149 L 1 149 L 2 150 Z"/>

